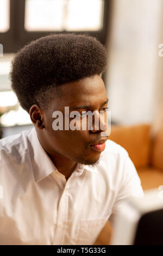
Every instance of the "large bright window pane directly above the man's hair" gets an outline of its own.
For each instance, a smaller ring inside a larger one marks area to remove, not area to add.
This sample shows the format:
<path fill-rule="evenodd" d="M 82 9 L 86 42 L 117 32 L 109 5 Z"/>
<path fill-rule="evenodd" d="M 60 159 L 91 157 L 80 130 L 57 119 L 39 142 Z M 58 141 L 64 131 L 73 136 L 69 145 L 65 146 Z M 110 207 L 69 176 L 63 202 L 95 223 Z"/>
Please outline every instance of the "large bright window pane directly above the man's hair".
<path fill-rule="evenodd" d="M 103 0 L 26 0 L 26 31 L 99 31 Z"/>

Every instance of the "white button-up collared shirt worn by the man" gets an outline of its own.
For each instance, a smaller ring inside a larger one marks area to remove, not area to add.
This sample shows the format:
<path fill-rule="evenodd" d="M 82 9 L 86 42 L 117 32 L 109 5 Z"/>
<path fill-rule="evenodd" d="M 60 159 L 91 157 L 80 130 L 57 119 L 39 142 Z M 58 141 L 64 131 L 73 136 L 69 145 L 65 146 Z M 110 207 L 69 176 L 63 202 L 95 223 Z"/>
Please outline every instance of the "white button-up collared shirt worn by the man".
<path fill-rule="evenodd" d="M 35 127 L 0 140 L 0 244 L 92 245 L 123 199 L 144 196 L 125 149 L 110 140 L 96 167 L 77 164 L 66 181 Z"/>

